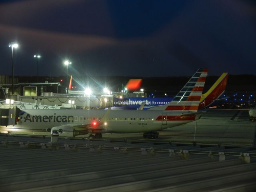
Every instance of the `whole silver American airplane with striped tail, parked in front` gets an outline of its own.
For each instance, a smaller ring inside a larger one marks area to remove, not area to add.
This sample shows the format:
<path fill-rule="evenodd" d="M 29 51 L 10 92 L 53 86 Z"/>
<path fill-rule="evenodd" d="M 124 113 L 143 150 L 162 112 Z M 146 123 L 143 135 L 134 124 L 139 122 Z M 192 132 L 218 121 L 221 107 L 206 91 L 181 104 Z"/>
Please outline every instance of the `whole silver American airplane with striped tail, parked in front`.
<path fill-rule="evenodd" d="M 198 120 L 200 99 L 208 69 L 199 69 L 168 104 L 149 110 L 76 110 L 31 109 L 20 111 L 16 124 L 0 126 L 1 132 L 50 132 L 60 136 L 79 134 L 143 133 L 144 138 L 157 138 L 162 130 Z"/>

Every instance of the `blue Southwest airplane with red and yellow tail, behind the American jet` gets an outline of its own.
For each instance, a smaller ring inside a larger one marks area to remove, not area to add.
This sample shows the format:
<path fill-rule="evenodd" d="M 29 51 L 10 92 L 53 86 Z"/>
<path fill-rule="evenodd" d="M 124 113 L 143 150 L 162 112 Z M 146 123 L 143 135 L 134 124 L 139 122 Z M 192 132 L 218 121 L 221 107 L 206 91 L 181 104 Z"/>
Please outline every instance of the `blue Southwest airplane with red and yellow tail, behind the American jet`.
<path fill-rule="evenodd" d="M 228 81 L 228 73 L 223 73 L 212 87 L 200 98 L 199 110 L 210 106 L 213 102 L 222 100 L 220 96 L 224 93 Z M 145 102 L 143 110 L 154 108 L 155 106 L 168 104 L 173 97 L 147 97 L 147 98 L 116 98 L 114 100 L 114 109 L 138 109 Z"/>

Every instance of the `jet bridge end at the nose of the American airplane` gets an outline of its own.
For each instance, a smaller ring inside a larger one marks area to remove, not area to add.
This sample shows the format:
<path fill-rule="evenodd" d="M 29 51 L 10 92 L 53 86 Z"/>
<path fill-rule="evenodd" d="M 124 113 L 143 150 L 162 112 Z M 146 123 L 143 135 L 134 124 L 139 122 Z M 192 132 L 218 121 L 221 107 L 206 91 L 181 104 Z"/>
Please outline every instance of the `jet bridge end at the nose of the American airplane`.
<path fill-rule="evenodd" d="M 1 105 L 0 106 L 0 126 L 8 126 L 16 124 L 16 117 L 20 112 L 19 108 L 14 105 Z"/>

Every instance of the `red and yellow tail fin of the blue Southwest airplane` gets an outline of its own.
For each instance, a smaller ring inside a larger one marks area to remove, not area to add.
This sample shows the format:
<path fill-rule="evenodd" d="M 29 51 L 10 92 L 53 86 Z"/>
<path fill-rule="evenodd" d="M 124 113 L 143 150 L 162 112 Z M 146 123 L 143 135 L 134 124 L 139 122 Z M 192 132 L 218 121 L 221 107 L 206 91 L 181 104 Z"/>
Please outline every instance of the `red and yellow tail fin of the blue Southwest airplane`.
<path fill-rule="evenodd" d="M 224 93 L 228 82 L 228 75 L 228 73 L 223 73 L 212 87 L 206 93 L 202 94 L 199 108 L 210 105 Z"/>

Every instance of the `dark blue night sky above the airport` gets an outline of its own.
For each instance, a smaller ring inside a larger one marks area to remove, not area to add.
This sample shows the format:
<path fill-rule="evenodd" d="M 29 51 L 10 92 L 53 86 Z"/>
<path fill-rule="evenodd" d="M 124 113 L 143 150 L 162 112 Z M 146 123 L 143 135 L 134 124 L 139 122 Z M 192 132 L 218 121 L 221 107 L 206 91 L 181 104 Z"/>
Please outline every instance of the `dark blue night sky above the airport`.
<path fill-rule="evenodd" d="M 11 75 L 256 75 L 256 1 L 5 0 L 0 63 Z"/>

